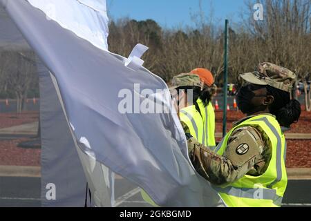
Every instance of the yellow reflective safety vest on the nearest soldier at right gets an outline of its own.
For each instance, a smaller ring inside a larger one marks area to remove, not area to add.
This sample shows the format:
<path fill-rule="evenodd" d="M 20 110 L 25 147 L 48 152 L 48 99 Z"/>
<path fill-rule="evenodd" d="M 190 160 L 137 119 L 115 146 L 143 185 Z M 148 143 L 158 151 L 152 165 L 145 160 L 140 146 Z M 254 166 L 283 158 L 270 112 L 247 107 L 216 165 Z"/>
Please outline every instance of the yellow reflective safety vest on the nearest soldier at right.
<path fill-rule="evenodd" d="M 225 188 L 214 186 L 228 206 L 281 206 L 287 184 L 285 171 L 285 137 L 279 123 L 271 115 L 258 115 L 232 128 L 218 144 L 215 152 L 223 155 L 232 132 L 241 126 L 260 126 L 270 137 L 272 158 L 263 175 L 244 175 Z M 283 152 L 284 151 L 284 152 Z M 283 155 L 282 155 L 283 152 Z"/>

